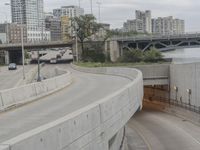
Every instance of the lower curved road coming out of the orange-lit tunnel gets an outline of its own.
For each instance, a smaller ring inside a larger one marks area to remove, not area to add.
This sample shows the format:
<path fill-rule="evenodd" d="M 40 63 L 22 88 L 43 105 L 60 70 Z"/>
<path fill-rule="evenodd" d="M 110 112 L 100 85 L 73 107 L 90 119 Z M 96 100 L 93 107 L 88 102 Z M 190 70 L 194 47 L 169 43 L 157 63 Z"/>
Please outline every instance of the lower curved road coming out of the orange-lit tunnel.
<path fill-rule="evenodd" d="M 138 133 L 146 146 L 129 143 L 129 150 L 199 150 L 200 127 L 191 122 L 161 112 L 154 105 L 145 105 L 134 115 L 128 127 Z M 131 141 L 131 139 L 128 139 Z"/>

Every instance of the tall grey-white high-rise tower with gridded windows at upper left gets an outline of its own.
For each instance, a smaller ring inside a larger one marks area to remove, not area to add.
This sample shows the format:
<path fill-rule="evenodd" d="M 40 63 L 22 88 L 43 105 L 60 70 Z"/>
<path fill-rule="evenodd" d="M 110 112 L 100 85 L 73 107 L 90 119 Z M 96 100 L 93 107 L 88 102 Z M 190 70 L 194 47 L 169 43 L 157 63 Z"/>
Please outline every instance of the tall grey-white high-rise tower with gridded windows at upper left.
<path fill-rule="evenodd" d="M 50 40 L 50 32 L 45 30 L 43 0 L 11 0 L 12 22 L 27 28 L 28 42 Z M 22 18 L 21 18 L 22 16 Z"/>

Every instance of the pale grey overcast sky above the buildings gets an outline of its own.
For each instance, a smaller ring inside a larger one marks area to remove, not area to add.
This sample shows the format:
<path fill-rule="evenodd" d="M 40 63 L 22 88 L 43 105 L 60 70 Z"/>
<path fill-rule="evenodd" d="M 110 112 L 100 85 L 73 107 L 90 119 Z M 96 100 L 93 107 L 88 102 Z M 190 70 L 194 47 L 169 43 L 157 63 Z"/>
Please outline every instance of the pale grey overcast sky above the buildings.
<path fill-rule="evenodd" d="M 10 8 L 0 3 L 0 21 L 10 20 Z M 90 13 L 90 0 L 80 0 L 85 13 Z M 135 10 L 151 10 L 152 17 L 174 16 L 184 19 L 187 31 L 200 31 L 199 0 L 93 0 L 93 12 L 98 17 L 97 1 L 101 5 L 101 20 L 110 23 L 112 28 L 121 28 L 127 19 L 135 18 Z M 78 5 L 78 0 L 44 0 L 45 11 L 52 11 L 65 5 Z"/>

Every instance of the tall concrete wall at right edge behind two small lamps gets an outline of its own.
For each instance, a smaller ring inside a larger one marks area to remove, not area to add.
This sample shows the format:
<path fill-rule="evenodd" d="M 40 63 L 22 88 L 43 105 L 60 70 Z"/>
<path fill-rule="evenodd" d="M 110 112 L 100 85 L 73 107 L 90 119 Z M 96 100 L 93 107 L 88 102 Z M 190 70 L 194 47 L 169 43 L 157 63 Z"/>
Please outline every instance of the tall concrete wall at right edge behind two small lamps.
<path fill-rule="evenodd" d="M 171 99 L 200 107 L 200 63 L 173 64 L 170 66 Z M 174 87 L 178 88 L 178 91 Z M 191 95 L 187 92 L 191 89 Z"/>

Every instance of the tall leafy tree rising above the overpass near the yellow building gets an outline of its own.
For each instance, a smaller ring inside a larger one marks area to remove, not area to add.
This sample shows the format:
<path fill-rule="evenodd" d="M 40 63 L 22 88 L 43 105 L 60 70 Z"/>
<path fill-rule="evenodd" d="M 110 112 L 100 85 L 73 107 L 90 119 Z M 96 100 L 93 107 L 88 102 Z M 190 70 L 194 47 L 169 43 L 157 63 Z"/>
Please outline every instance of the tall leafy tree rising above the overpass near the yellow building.
<path fill-rule="evenodd" d="M 72 27 L 77 32 L 84 54 L 84 41 L 99 31 L 101 25 L 96 22 L 96 18 L 93 15 L 87 14 L 73 18 Z"/>

